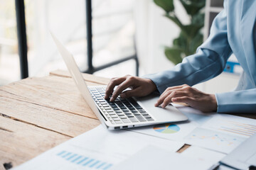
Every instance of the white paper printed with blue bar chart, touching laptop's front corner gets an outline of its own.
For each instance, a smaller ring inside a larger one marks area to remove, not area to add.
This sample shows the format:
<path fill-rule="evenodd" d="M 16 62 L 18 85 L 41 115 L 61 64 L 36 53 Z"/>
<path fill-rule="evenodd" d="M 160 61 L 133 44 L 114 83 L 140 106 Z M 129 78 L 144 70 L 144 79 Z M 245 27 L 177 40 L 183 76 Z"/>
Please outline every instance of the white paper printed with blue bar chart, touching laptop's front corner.
<path fill-rule="evenodd" d="M 183 142 L 163 140 L 127 130 L 97 128 L 68 140 L 16 169 L 110 169 L 144 147 L 176 152 Z"/>

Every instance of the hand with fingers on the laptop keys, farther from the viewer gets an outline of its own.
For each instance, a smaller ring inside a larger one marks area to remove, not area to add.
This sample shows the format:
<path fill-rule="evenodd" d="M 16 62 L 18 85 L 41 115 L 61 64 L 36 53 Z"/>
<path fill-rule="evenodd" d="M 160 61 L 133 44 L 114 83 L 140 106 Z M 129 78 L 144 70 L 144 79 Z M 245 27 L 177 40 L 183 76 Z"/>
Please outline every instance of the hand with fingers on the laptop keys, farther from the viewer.
<path fill-rule="evenodd" d="M 117 89 L 114 91 L 115 86 L 117 86 Z M 128 87 L 132 90 L 124 91 Z M 119 95 L 122 98 L 146 96 L 155 90 L 156 85 L 151 81 L 151 79 L 127 75 L 125 77 L 112 78 L 110 80 L 110 83 L 107 85 L 105 99 L 107 100 L 111 96 L 110 101 L 114 101 Z"/>

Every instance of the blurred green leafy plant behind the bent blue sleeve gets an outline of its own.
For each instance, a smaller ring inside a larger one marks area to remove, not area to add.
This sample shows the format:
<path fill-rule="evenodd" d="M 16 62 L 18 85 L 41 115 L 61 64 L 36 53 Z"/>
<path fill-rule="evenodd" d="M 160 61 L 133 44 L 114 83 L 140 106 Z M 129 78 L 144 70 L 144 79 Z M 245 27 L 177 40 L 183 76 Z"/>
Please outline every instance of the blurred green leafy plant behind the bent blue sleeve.
<path fill-rule="evenodd" d="M 203 35 L 200 33 L 203 28 L 204 13 L 202 8 L 206 5 L 206 0 L 179 0 L 188 13 L 191 23 L 183 25 L 178 19 L 174 11 L 174 0 L 154 0 L 157 6 L 164 9 L 167 18 L 176 23 L 181 29 L 178 38 L 174 39 L 172 47 L 165 47 L 164 53 L 166 57 L 178 64 L 183 60 L 183 57 L 193 55 L 196 48 L 203 42 Z"/>

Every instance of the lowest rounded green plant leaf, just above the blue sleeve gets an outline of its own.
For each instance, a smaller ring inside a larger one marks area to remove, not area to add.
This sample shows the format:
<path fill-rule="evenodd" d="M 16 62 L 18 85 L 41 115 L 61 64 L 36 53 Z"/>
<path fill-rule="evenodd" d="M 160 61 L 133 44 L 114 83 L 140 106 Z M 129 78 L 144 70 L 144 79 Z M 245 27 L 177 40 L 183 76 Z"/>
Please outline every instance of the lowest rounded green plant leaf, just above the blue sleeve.
<path fill-rule="evenodd" d="M 183 50 L 181 48 L 177 47 L 165 47 L 164 54 L 174 64 L 178 64 L 182 62 L 181 54 L 183 53 Z"/>

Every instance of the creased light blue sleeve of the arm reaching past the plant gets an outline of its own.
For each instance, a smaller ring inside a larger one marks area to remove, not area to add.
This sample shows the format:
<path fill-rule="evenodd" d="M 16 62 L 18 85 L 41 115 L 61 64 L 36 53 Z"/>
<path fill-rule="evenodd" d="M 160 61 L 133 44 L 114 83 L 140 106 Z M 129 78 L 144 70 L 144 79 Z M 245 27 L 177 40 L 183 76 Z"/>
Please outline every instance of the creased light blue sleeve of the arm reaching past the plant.
<path fill-rule="evenodd" d="M 215 17 L 210 28 L 210 36 L 195 55 L 185 57 L 174 69 L 148 74 L 145 78 L 156 84 L 160 93 L 169 86 L 188 84 L 193 86 L 218 76 L 232 54 L 227 37 L 227 17 L 225 9 Z"/>

